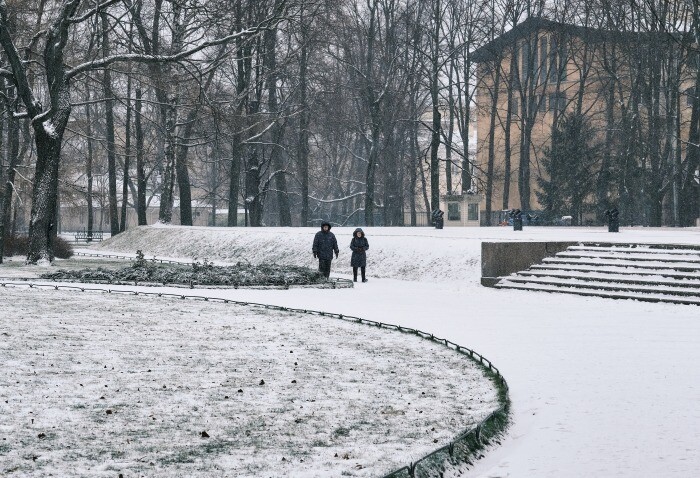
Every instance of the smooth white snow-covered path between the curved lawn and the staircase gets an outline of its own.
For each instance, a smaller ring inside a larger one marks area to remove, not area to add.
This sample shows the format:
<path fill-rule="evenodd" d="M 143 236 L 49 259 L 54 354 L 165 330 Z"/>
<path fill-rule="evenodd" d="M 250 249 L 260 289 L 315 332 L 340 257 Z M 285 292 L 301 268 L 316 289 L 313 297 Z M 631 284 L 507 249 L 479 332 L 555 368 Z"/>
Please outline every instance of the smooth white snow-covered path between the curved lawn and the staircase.
<path fill-rule="evenodd" d="M 415 327 L 483 353 L 508 380 L 514 423 L 472 476 L 700 469 L 697 307 L 391 279 L 350 290 L 207 293 Z"/>

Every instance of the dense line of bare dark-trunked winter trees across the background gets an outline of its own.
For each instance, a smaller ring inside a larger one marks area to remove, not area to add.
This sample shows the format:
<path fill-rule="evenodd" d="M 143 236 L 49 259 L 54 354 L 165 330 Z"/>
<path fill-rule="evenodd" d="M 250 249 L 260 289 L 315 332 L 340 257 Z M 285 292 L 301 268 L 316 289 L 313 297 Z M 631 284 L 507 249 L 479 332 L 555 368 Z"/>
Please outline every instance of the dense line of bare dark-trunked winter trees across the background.
<path fill-rule="evenodd" d="M 0 235 L 26 225 L 39 262 L 53 259 L 60 205 L 86 204 L 89 230 L 104 220 L 118 234 L 129 209 L 145 224 L 155 205 L 159 221 L 177 210 L 184 225 L 206 205 L 212 218 L 228 210 L 228 226 L 392 226 L 421 223 L 446 191 L 483 192 L 498 208 L 489 190 L 511 174 L 529 197 L 535 110 L 520 108 L 529 119 L 509 133 L 518 154 L 479 146 L 517 157 L 508 171 L 476 164 L 466 138 L 477 104 L 488 114 L 493 103 L 475 101 L 473 52 L 532 17 L 690 33 L 679 46 L 688 58 L 697 44 L 689 0 L 0 0 Z M 602 148 L 606 167 L 591 171 L 601 195 L 612 181 L 601 178 L 618 178 L 615 191 L 649 204 L 650 217 L 659 195 L 686 204 L 700 143 L 693 124 L 683 147 L 667 141 L 679 127 L 661 110 L 635 116 L 630 95 L 644 91 L 651 110 L 672 95 L 676 80 L 656 68 L 639 91 L 609 85 L 611 102 L 630 104 L 615 128 L 631 136 L 601 133 L 619 148 Z M 499 81 L 512 104 L 530 104 L 527 82 Z M 677 209 L 679 225 L 695 213 Z"/>

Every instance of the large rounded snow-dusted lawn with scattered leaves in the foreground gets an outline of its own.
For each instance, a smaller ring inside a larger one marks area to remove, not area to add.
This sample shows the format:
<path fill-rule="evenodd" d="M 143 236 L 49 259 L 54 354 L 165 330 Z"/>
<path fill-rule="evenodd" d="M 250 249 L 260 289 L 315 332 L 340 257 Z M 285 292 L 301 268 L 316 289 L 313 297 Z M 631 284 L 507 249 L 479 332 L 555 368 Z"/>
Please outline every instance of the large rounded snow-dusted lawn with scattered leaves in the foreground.
<path fill-rule="evenodd" d="M 471 360 L 414 335 L 114 293 L 0 300 L 0 476 L 376 477 L 498 407 Z"/>

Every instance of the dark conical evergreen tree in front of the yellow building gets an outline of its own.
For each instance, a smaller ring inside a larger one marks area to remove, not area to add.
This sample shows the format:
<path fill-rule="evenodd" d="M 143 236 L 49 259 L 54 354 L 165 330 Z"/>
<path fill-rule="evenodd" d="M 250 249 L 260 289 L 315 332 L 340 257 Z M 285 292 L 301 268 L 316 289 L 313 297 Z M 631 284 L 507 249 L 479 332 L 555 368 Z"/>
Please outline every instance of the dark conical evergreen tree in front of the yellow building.
<path fill-rule="evenodd" d="M 560 118 L 552 131 L 552 144 L 545 148 L 544 174 L 537 182 L 537 198 L 549 216 L 571 216 L 581 225 L 587 200 L 595 190 L 600 144 L 589 120 L 571 113 Z"/>

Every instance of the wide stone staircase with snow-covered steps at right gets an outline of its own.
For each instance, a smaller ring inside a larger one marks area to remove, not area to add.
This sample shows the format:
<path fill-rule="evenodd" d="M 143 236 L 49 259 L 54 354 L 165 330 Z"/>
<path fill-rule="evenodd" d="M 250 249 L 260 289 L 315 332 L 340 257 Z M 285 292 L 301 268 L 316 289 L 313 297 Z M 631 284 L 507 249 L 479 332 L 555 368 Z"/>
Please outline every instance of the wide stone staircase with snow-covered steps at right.
<path fill-rule="evenodd" d="M 700 305 L 700 246 L 582 243 L 495 287 Z"/>

